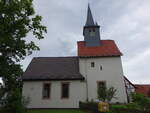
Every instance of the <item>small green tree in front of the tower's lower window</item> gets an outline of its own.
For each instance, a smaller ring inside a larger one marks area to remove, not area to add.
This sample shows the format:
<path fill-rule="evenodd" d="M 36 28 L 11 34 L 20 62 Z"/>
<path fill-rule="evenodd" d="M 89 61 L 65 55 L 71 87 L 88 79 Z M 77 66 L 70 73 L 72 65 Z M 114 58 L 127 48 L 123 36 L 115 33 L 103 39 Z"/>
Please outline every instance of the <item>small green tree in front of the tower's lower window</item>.
<path fill-rule="evenodd" d="M 106 88 L 106 87 L 98 87 L 97 96 L 98 99 L 105 102 L 110 102 L 113 98 L 116 98 L 116 91 L 114 87 Z"/>

